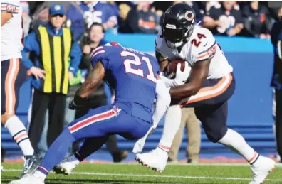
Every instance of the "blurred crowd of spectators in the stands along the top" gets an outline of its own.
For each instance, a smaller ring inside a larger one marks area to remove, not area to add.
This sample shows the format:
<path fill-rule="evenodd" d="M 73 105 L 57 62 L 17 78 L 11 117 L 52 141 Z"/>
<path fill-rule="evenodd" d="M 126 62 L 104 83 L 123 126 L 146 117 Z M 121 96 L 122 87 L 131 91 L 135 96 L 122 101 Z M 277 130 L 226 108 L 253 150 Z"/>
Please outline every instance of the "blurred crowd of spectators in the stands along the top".
<path fill-rule="evenodd" d="M 278 13 L 267 1 L 99 1 L 96 6 L 96 1 L 68 1 L 63 6 L 67 9 L 66 27 L 79 39 L 93 22 L 113 33 L 157 33 L 164 11 L 179 2 L 192 6 L 200 25 L 221 36 L 270 38 Z M 48 23 L 48 5 L 54 3 L 23 2 L 25 33 L 30 23 L 31 29 Z"/>

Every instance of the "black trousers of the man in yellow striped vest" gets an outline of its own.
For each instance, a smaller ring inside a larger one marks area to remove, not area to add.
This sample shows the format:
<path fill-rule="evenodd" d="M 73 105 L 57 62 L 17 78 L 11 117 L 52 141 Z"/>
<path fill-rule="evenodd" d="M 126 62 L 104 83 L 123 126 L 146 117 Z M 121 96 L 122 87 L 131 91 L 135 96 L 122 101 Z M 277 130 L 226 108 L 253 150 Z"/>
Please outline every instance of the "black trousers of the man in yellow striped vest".
<path fill-rule="evenodd" d="M 46 110 L 48 109 L 49 114 L 47 132 L 47 146 L 49 147 L 63 130 L 65 105 L 65 94 L 34 91 L 28 136 L 36 151 L 38 150 L 37 144 L 43 131 Z"/>

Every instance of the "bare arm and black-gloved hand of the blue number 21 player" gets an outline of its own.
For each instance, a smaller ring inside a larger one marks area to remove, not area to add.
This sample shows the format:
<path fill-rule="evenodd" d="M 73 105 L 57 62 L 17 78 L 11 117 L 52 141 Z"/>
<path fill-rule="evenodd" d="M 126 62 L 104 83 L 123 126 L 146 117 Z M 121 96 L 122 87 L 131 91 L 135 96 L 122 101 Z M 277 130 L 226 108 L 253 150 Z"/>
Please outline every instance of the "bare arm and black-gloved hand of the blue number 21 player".
<path fill-rule="evenodd" d="M 70 102 L 69 108 L 76 109 L 76 107 L 83 106 L 88 96 L 94 92 L 98 84 L 105 76 L 105 69 L 103 64 L 99 61 L 94 69 L 90 72 L 83 85 L 75 92 L 74 99 Z"/>

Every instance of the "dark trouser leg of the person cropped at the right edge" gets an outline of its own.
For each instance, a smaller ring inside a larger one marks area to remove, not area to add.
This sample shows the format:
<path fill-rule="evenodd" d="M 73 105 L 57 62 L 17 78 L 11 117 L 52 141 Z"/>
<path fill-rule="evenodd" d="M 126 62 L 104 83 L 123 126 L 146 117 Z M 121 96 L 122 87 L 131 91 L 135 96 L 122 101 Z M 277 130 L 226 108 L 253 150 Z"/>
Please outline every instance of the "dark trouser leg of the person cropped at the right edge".
<path fill-rule="evenodd" d="M 276 95 L 276 143 L 279 156 L 282 158 L 282 90 L 275 90 Z"/>

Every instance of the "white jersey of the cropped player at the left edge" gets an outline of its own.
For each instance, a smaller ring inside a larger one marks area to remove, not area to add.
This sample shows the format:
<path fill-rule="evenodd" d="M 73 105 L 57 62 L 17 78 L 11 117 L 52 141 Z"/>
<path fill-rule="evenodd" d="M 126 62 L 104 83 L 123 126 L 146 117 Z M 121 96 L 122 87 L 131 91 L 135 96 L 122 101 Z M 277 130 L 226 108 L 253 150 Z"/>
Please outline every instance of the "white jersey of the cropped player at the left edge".
<path fill-rule="evenodd" d="M 23 28 L 22 9 L 19 1 L 1 1 L 1 13 L 12 13 L 13 17 L 1 27 L 1 61 L 21 58 Z"/>

